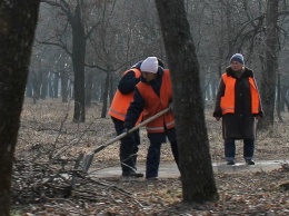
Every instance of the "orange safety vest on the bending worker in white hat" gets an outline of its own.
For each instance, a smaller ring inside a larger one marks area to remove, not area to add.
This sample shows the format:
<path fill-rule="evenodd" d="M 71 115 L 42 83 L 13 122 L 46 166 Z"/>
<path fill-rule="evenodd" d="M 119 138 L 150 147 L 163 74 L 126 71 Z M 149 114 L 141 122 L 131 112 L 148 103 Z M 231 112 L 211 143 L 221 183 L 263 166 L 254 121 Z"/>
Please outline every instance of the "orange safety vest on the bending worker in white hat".
<path fill-rule="evenodd" d="M 156 95 L 152 87 L 150 85 L 139 82 L 137 88 L 144 99 L 144 110 L 143 110 L 143 119 L 148 119 L 151 116 L 160 112 L 161 110 L 168 108 L 169 102 L 172 98 L 171 91 L 171 79 L 168 69 L 163 70 L 162 82 L 160 87 L 160 97 Z M 168 129 L 175 127 L 175 118 L 171 111 L 160 116 L 159 118 L 148 122 L 146 125 L 148 132 L 163 132 L 163 124 Z"/>

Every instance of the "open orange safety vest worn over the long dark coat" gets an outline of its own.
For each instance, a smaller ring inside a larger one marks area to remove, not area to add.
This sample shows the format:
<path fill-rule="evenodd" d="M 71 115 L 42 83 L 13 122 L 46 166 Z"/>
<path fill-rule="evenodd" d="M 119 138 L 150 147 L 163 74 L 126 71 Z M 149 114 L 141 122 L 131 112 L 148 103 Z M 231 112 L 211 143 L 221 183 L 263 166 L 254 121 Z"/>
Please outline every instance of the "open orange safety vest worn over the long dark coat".
<path fill-rule="evenodd" d="M 235 84 L 236 79 L 227 73 L 222 75 L 222 81 L 226 85 L 225 95 L 221 97 L 220 107 L 222 115 L 235 112 Z M 253 78 L 249 77 L 251 92 L 251 112 L 259 114 L 260 96 Z"/>

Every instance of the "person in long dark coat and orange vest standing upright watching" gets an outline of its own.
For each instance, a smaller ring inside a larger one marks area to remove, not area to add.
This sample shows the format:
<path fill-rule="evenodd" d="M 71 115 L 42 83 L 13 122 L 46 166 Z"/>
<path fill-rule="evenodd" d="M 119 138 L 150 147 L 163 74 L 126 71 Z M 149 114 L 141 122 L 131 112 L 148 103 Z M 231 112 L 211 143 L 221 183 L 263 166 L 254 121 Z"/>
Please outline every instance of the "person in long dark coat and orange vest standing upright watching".
<path fill-rule="evenodd" d="M 243 56 L 236 53 L 221 77 L 213 117 L 222 118 L 222 137 L 227 165 L 235 165 L 236 140 L 243 140 L 243 159 L 255 165 L 255 119 L 262 117 L 261 99 L 253 71 L 245 67 Z"/>

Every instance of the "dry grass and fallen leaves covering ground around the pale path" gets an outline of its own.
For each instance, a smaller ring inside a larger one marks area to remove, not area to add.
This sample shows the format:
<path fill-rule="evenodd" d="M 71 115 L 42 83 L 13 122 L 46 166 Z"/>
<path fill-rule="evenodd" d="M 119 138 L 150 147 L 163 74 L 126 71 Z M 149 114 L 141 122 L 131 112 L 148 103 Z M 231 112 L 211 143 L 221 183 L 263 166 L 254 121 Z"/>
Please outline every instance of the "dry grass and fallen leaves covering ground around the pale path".
<path fill-rule="evenodd" d="M 17 159 L 48 160 L 50 157 L 77 158 L 80 151 L 98 147 L 114 138 L 109 117 L 100 118 L 100 105 L 87 110 L 86 124 L 72 124 L 72 104 L 58 100 L 26 100 Z M 220 122 L 207 110 L 207 128 L 212 160 L 223 161 Z M 258 134 L 256 160 L 289 158 L 289 115 L 283 122 L 276 122 L 273 134 Z M 143 163 L 148 139 L 141 130 L 142 145 L 139 161 Z M 242 160 L 242 145 L 238 145 L 237 160 Z M 172 160 L 169 145 L 162 147 L 162 160 Z M 118 164 L 118 144 L 111 145 L 94 157 L 93 166 Z M 288 164 L 287 164 L 288 165 Z M 181 183 L 178 179 L 161 179 L 148 183 L 143 179 L 92 179 L 82 184 L 93 195 L 90 200 L 78 197 L 34 197 L 38 203 L 14 205 L 14 215 L 288 215 L 289 167 L 258 173 L 216 173 L 219 202 L 197 204 L 181 203 Z M 103 181 L 102 181 L 103 180 Z M 92 185 L 91 185 L 92 184 Z M 101 188 L 100 188 L 101 186 Z M 94 194 L 93 194 L 94 193 Z"/>

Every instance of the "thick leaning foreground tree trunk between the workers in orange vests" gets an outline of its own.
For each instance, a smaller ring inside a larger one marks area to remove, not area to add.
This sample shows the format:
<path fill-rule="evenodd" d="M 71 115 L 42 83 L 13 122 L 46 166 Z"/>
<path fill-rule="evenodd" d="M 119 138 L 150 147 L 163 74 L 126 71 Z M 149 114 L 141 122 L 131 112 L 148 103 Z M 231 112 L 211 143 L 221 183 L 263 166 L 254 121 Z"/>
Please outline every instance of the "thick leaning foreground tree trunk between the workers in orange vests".
<path fill-rule="evenodd" d="M 199 63 L 183 1 L 156 0 L 169 68 L 183 202 L 218 199 L 203 114 Z"/>

